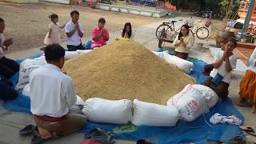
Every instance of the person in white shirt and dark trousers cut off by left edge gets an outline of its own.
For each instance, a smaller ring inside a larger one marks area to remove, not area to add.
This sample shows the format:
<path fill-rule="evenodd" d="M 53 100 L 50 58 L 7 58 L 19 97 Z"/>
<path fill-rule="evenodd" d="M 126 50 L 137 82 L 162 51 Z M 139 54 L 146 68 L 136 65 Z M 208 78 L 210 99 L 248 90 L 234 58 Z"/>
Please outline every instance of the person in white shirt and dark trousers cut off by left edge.
<path fill-rule="evenodd" d="M 0 75 L 4 78 L 10 78 L 19 71 L 19 64 L 10 58 L 5 57 L 5 52 L 13 44 L 13 39 L 6 39 L 3 35 L 5 22 L 0 18 Z"/>

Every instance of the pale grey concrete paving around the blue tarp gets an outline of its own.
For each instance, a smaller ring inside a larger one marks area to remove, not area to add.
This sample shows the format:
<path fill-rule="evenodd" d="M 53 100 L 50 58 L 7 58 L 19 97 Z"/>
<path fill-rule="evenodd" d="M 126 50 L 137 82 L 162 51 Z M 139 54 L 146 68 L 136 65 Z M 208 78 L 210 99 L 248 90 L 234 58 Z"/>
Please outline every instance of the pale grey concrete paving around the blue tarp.
<path fill-rule="evenodd" d="M 174 19 L 186 19 L 182 17 L 174 18 Z M 168 21 L 168 20 L 165 20 Z M 156 50 L 158 48 L 158 40 L 155 38 L 155 29 L 159 24 L 162 22 L 154 22 L 147 24 L 145 26 L 138 26 L 136 27 L 136 34 L 135 34 L 135 41 L 140 42 L 142 45 L 146 46 L 149 50 Z M 177 26 L 181 26 L 182 23 L 178 23 Z M 114 41 L 115 37 L 119 36 L 120 31 L 115 31 L 110 33 L 111 39 L 110 42 Z M 84 38 L 84 40 L 89 38 Z M 84 40 L 82 42 L 84 42 Z M 198 44 L 199 43 L 199 44 Z M 213 57 L 210 54 L 210 51 L 207 49 L 207 45 L 203 45 L 206 48 L 202 47 L 202 43 L 204 44 L 214 44 L 214 40 L 198 40 L 196 39 L 195 45 L 191 50 L 190 56 L 194 58 L 199 58 L 204 60 L 205 62 L 212 62 Z M 63 46 L 65 44 L 63 43 Z M 172 49 L 172 45 L 170 43 L 164 44 L 167 49 Z M 30 50 L 23 50 L 12 54 L 7 54 L 9 58 L 27 58 L 32 54 L 37 54 L 40 52 L 38 48 L 30 49 Z M 230 98 L 233 102 L 236 101 L 238 98 L 238 91 L 239 91 L 239 82 L 242 79 L 244 72 L 234 71 L 232 74 L 232 82 L 230 85 Z M 245 117 L 245 126 L 251 126 L 256 129 L 255 126 L 255 118 L 256 114 L 250 113 L 249 108 L 242 108 L 238 107 L 238 110 L 244 115 Z M 0 143 L 1 144 L 25 144 L 30 143 L 31 137 L 20 137 L 18 135 L 18 130 L 22 129 L 23 126 L 27 124 L 33 123 L 30 114 L 23 114 L 23 113 L 15 113 L 8 110 L 3 109 L 0 107 Z M 254 140 L 255 138 L 248 137 L 250 140 Z M 82 134 L 72 134 L 65 138 L 61 138 L 58 140 L 53 140 L 46 143 L 79 143 L 82 142 L 84 138 Z M 117 143 L 135 143 L 135 142 L 128 142 L 128 141 L 118 141 Z"/>

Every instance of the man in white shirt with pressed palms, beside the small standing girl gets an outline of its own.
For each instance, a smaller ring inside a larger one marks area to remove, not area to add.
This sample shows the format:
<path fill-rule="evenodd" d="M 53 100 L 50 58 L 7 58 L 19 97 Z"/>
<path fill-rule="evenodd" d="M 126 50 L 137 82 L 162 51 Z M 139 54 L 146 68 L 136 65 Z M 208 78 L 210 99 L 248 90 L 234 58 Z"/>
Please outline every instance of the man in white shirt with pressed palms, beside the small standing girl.
<path fill-rule="evenodd" d="M 70 13 L 71 21 L 66 23 L 66 46 L 69 51 L 84 50 L 81 38 L 83 37 L 82 26 L 79 24 L 79 12 L 73 10 Z"/>

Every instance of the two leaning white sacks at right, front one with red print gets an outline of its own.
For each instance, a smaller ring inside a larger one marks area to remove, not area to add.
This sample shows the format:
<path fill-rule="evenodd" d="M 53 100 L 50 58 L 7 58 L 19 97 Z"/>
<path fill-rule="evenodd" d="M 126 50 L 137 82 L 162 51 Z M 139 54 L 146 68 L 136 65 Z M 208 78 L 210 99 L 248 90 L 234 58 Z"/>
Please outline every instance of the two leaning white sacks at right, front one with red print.
<path fill-rule="evenodd" d="M 167 106 L 176 107 L 182 120 L 192 122 L 201 114 L 206 114 L 217 102 L 218 95 L 210 88 L 189 84 L 170 98 Z"/>

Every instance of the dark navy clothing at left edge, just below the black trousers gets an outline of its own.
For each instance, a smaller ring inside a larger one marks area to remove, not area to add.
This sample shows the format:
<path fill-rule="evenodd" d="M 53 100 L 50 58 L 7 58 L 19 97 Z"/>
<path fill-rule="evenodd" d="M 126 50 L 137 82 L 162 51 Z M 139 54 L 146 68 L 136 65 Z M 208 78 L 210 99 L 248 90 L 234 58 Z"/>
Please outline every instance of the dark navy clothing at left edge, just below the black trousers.
<path fill-rule="evenodd" d="M 18 92 L 12 87 L 13 83 L 0 75 L 0 98 L 14 99 L 18 96 Z"/>

